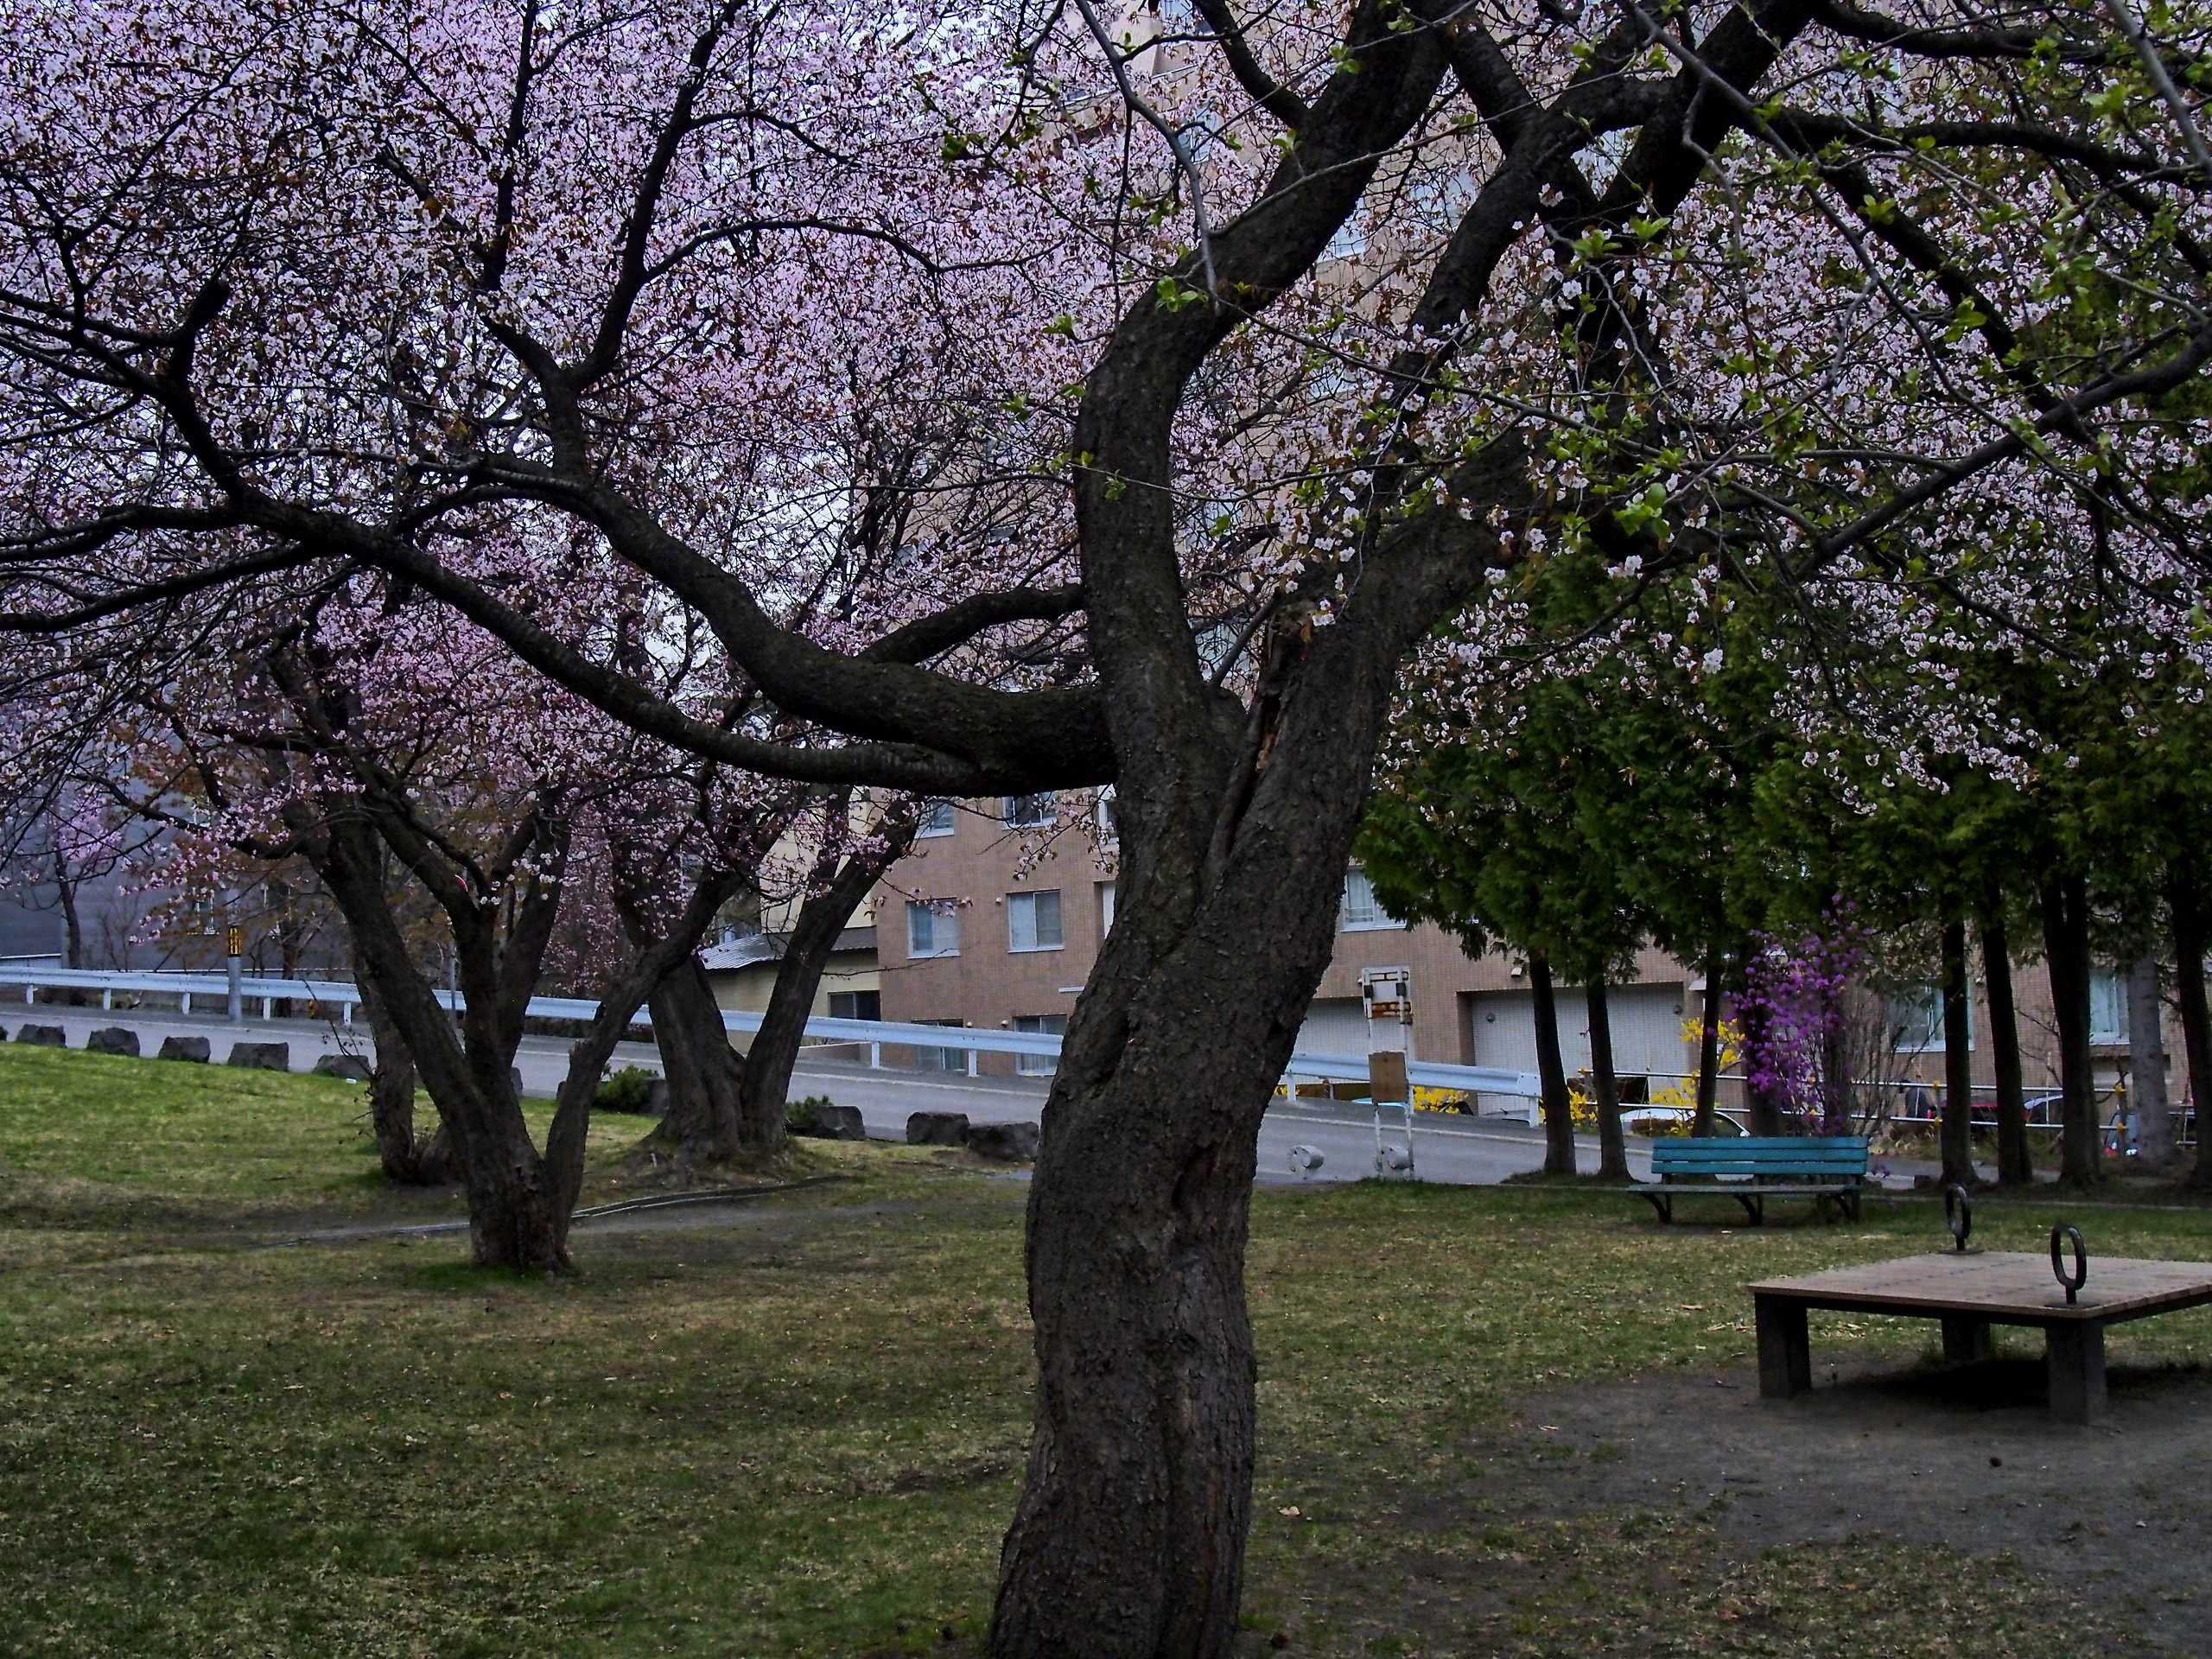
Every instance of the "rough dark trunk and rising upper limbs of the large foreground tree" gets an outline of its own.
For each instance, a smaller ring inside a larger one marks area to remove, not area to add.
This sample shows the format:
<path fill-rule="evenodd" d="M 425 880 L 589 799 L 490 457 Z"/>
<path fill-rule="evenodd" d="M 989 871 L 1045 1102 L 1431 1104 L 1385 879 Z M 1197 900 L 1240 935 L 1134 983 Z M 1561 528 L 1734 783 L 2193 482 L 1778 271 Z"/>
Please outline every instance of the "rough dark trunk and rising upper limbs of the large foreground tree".
<path fill-rule="evenodd" d="M 1701 42 L 1708 73 L 1756 82 L 1803 15 L 1719 24 Z M 1175 422 L 1214 347 L 1321 259 L 1447 69 L 1482 80 L 1478 53 L 1447 60 L 1444 29 L 1422 22 L 1442 24 L 1442 9 L 1354 7 L 1343 69 L 1296 119 L 1276 177 L 1210 239 L 1203 268 L 1199 254 L 1179 268 L 1219 299 L 1139 299 L 1084 385 L 1077 549 L 1128 891 L 1068 1020 L 1029 1194 L 1037 1416 L 993 1659 L 1225 1659 L 1237 1639 L 1259 1126 L 1329 960 L 1398 666 L 1509 555 L 1480 515 L 1369 513 L 1356 564 L 1276 595 L 1239 706 L 1188 626 Z M 1703 82 L 1681 80 L 1670 100 L 1652 131 L 1686 137 L 1648 131 L 1624 164 L 1624 199 L 1657 204 L 1646 210 L 1672 212 L 1734 119 Z M 1506 104 L 1515 168 L 1453 237 L 1416 330 L 1442 334 L 1469 312 L 1489 281 L 1486 226 L 1537 212 L 1555 164 L 1586 142 L 1564 111 L 1533 119 L 1524 100 Z M 1418 347 L 1405 367 L 1409 389 L 1429 372 Z M 1385 489 L 1420 478 L 1396 473 L 1376 476 Z M 1455 465 L 1453 487 L 1511 513 L 1528 500 L 1524 478 L 1517 451 L 1484 451 Z M 1345 602 L 1316 628 L 1314 602 L 1338 577 Z"/>

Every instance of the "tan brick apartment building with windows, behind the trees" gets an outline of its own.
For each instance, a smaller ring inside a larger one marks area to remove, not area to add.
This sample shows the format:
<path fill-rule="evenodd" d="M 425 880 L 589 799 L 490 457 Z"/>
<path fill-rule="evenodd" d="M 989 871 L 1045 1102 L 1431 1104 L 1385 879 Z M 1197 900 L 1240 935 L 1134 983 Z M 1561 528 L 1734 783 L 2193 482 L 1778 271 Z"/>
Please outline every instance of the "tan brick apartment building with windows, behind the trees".
<path fill-rule="evenodd" d="M 880 1018 L 1064 1031 L 1099 942 L 1113 927 L 1113 803 L 1086 796 L 1066 807 L 1053 796 L 998 796 L 938 803 L 916 849 L 885 876 L 872 898 Z M 1418 1060 L 1535 1071 L 1535 998 L 1526 969 L 1504 953 L 1480 958 L 1431 925 L 1405 925 L 1383 914 L 1360 869 L 1345 872 L 1336 920 L 1336 956 L 1314 993 L 1298 1046 L 1321 1053 L 1367 1053 L 1402 1046 Z M 1411 1024 L 1369 1035 L 1365 984 L 1402 975 Z M 2057 1031 L 2042 964 L 2015 964 L 2022 1068 L 2031 1093 L 2057 1086 Z M 1666 951 L 1637 956 L 1635 975 L 1613 987 L 1615 1068 L 1624 1097 L 1659 1093 L 1697 1066 L 1697 1022 L 1705 982 Z M 1973 1077 L 1993 1091 L 1995 1060 L 1984 1033 L 1989 1009 L 1973 987 Z M 1900 1084 L 1942 1079 L 1942 1013 L 1931 984 L 1905 984 L 1887 995 L 1863 993 L 1867 1022 L 1880 1015 L 1880 1077 Z M 1559 989 L 1559 1046 L 1571 1073 L 1590 1062 L 1582 993 Z M 2110 1088 L 2128 1064 L 2126 982 L 2101 969 L 2093 982 L 2093 1046 L 2099 1086 Z M 2181 1040 L 2168 1011 L 2166 1053 Z M 925 1066 L 962 1068 L 962 1051 L 925 1051 Z M 1011 1073 L 1009 1055 L 982 1055 L 984 1073 Z M 2170 1093 L 2188 1093 L 2177 1062 Z M 1024 1071 L 1048 1073 L 1042 1060 Z M 1637 1082 L 1641 1079 L 1641 1084 Z M 1725 1099 L 1725 1095 L 1723 1095 Z"/>

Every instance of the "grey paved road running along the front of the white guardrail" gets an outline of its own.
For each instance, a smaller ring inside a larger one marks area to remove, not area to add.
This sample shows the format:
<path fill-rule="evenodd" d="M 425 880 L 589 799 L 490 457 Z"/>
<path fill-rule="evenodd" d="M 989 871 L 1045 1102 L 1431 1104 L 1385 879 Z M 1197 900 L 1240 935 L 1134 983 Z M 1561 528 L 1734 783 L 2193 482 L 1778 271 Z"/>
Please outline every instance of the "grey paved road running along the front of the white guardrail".
<path fill-rule="evenodd" d="M 219 1015 L 139 1011 L 139 1009 L 66 1009 L 40 1002 L 0 1004 L 0 1029 L 11 1037 L 20 1024 L 58 1024 L 73 1048 L 100 1026 L 128 1026 L 139 1033 L 146 1053 L 166 1035 L 208 1037 L 217 1064 L 232 1042 L 285 1042 L 292 1046 L 292 1068 L 307 1071 L 321 1055 L 374 1053 L 365 1029 L 352 1031 L 312 1020 L 246 1020 L 232 1026 Z M 522 1088 L 551 1097 L 568 1066 L 568 1044 L 562 1037 L 524 1037 L 515 1055 Z M 615 1051 L 617 1066 L 657 1066 L 650 1042 L 626 1042 Z M 975 1124 L 1035 1121 L 1044 1106 L 1044 1082 L 1035 1077 L 960 1077 L 947 1073 L 869 1071 L 838 1060 L 801 1060 L 792 1079 L 794 1095 L 827 1095 L 838 1106 L 858 1106 L 869 1135 L 902 1139 L 909 1113 L 967 1113 Z M 1402 1133 L 1385 1139 L 1400 1141 Z M 1290 1164 L 1294 1146 L 1321 1152 L 1321 1168 L 1296 1172 Z M 1577 1137 L 1577 1164 L 1597 1170 L 1597 1141 Z M 1544 1133 L 1515 1119 L 1449 1117 L 1420 1113 L 1413 1130 L 1413 1155 L 1420 1179 L 1455 1186 L 1486 1186 L 1509 1175 L 1542 1168 Z M 1276 1102 L 1259 1135 L 1259 1179 L 1270 1186 L 1303 1181 L 1358 1181 L 1374 1175 L 1374 1117 L 1340 1102 Z M 1650 1148 L 1630 1139 L 1628 1164 L 1637 1177 L 1650 1175 Z M 1929 1166 L 1891 1164 L 1891 1179 L 1907 1181 Z"/>

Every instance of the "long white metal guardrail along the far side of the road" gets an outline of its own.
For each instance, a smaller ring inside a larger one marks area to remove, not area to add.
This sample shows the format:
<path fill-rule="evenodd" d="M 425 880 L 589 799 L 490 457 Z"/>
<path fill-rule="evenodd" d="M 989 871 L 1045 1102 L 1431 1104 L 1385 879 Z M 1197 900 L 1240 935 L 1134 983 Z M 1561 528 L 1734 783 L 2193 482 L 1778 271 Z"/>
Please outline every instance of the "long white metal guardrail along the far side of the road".
<path fill-rule="evenodd" d="M 192 1013 L 192 1002 L 204 1009 L 228 1009 L 232 982 L 226 973 L 100 973 L 88 969 L 27 967 L 0 962 L 0 991 L 22 987 L 24 1002 L 38 1004 L 40 991 L 97 991 L 102 1009 L 115 1009 L 117 998 L 164 995 L 177 998 L 179 1013 Z M 338 1024 L 354 1024 L 361 1006 L 361 989 L 347 980 L 292 980 L 265 973 L 243 973 L 237 982 L 243 1004 L 259 1002 L 261 1018 L 276 1018 L 276 1002 L 305 1002 L 310 1018 L 336 1018 Z M 462 998 L 453 991 L 438 991 L 445 1009 L 460 1009 Z M 122 1002 L 124 1009 L 135 1006 Z M 599 1011 L 597 1002 L 584 998 L 531 998 L 533 1020 L 591 1020 Z M 726 1011 L 721 1022 L 730 1031 L 752 1035 L 761 1029 L 759 1013 Z M 650 1026 L 644 1009 L 630 1024 Z M 1051 1031 L 998 1031 L 993 1026 L 929 1026 L 898 1020 L 834 1020 L 814 1015 L 805 1033 L 823 1044 L 854 1044 L 867 1048 L 872 1066 L 883 1064 L 885 1048 L 922 1048 L 942 1055 L 964 1057 L 964 1071 L 975 1075 L 978 1055 L 1018 1055 L 1026 1060 L 1057 1060 L 1060 1037 Z M 1513 1099 L 1535 1099 L 1535 1073 L 1500 1071 L 1495 1066 L 1444 1066 L 1433 1060 L 1407 1062 L 1407 1082 L 1416 1088 L 1451 1088 L 1467 1095 L 1509 1095 Z M 1285 1071 L 1287 1082 L 1367 1082 L 1367 1055 L 1338 1055 L 1318 1051 L 1296 1051 Z M 1531 1108 L 1533 1121 L 1533 1108 Z"/>

